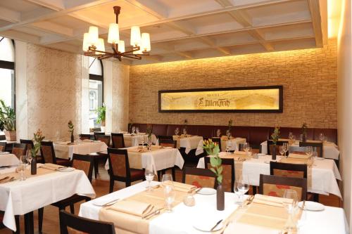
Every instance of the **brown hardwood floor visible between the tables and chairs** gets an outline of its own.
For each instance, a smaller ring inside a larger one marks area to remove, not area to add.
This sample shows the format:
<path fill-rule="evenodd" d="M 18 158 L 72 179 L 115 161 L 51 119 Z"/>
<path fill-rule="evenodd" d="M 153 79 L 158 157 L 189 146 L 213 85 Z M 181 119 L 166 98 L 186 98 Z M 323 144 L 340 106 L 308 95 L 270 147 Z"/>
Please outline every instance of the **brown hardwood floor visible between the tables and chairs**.
<path fill-rule="evenodd" d="M 182 181 L 182 172 L 176 171 L 176 180 Z M 137 181 L 139 183 L 139 181 Z M 133 183 L 132 183 L 133 184 Z M 96 192 L 96 197 L 108 194 L 109 178 L 107 171 L 103 168 L 103 165 L 99 166 L 99 176 L 97 179 L 93 179 L 92 185 Z M 114 190 L 125 188 L 125 183 L 115 182 Z M 250 191 L 251 193 L 251 191 Z M 30 195 L 29 195 L 30 196 Z M 339 197 L 334 195 L 320 195 L 320 202 L 332 207 L 341 207 L 341 201 Z M 69 212 L 69 208 L 66 209 Z M 75 204 L 75 214 L 80 211 L 80 203 Z M 24 233 L 24 219 L 20 217 L 20 228 L 21 233 Z M 4 228 L 0 230 L 0 234 L 10 234 L 11 230 Z M 34 233 L 38 233 L 38 213 L 34 212 Z M 44 220 L 43 220 L 43 233 L 56 234 L 60 233 L 59 221 L 58 221 L 58 208 L 53 206 L 47 206 L 44 208 Z"/>

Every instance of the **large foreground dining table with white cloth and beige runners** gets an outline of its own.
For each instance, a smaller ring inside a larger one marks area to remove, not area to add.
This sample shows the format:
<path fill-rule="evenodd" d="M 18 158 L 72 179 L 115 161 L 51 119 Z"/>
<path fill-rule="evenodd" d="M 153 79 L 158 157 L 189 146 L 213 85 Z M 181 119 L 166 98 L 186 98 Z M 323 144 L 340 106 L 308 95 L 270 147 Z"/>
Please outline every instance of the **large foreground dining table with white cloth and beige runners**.
<path fill-rule="evenodd" d="M 155 202 L 158 199 L 159 201 L 157 203 L 159 207 L 163 207 L 164 199 L 163 193 L 161 193 L 163 186 L 161 186 L 161 188 L 155 188 L 159 186 L 160 183 L 152 181 L 151 186 L 153 186 L 154 189 L 151 192 L 147 192 L 147 182 L 143 181 L 114 193 L 82 203 L 80 205 L 79 216 L 93 220 L 111 221 L 114 223 L 117 233 L 205 233 L 197 229 L 199 225 L 208 226 L 208 233 L 280 233 L 280 230 L 268 230 L 268 228 L 265 228 L 265 221 L 270 220 L 268 209 L 276 209 L 275 207 L 265 207 L 264 205 L 260 210 L 260 216 L 257 216 L 256 220 L 249 220 L 251 224 L 243 223 L 241 221 L 241 219 L 244 218 L 243 214 L 250 212 L 254 202 L 252 206 L 248 205 L 247 208 L 243 209 L 237 204 L 239 200 L 237 195 L 234 193 L 225 193 L 225 209 L 219 211 L 216 207 L 216 194 L 201 195 L 196 193 L 194 194 L 195 205 L 189 207 L 182 202 L 182 197 L 188 193 L 180 193 L 177 190 L 177 188 L 181 188 L 179 184 L 180 183 L 175 184 L 177 195 L 172 205 L 172 212 L 164 212 L 163 208 L 161 208 L 161 212 L 156 214 L 154 214 L 154 212 L 151 218 L 148 217 L 144 219 L 140 216 L 127 214 L 123 212 L 122 209 L 116 209 L 117 207 L 121 208 L 122 204 L 130 204 L 138 207 L 142 204 L 140 200 L 143 200 L 143 202 Z M 244 199 L 246 200 L 247 198 L 249 197 L 244 195 Z M 280 198 L 274 197 L 274 199 Z M 107 206 L 106 204 L 108 202 L 112 203 Z M 283 208 L 281 208 L 280 211 L 285 212 Z M 346 222 L 344 209 L 325 206 L 325 209 L 320 212 L 310 212 L 306 209 L 298 212 L 302 212 L 299 222 L 300 225 L 298 227 L 299 233 L 301 234 L 348 233 L 348 224 Z M 287 216 L 287 214 L 285 213 L 284 216 Z M 220 227 L 222 226 L 222 228 L 220 228 L 218 232 L 210 232 L 210 228 L 215 226 L 216 223 L 220 223 Z M 264 226 L 261 226 L 263 224 Z M 241 231 L 239 231 L 239 229 Z"/>

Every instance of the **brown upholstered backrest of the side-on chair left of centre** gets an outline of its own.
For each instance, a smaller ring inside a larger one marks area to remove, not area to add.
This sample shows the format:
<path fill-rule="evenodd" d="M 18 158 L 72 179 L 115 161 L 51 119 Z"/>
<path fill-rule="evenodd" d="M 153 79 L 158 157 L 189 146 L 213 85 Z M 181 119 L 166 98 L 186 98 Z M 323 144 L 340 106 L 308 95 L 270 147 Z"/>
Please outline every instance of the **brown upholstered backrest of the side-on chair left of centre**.
<path fill-rule="evenodd" d="M 108 162 L 110 176 L 117 178 L 130 178 L 130 162 L 127 150 L 108 148 Z"/>

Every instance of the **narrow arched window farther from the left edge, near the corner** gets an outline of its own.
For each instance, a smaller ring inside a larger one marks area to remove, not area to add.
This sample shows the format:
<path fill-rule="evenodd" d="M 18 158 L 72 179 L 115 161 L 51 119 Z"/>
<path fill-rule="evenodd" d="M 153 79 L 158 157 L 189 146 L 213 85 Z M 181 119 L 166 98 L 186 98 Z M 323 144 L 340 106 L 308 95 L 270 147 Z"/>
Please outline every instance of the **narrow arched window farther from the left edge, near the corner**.
<path fill-rule="evenodd" d="M 89 57 L 89 128 L 99 127 L 96 109 L 103 106 L 103 63 Z"/>

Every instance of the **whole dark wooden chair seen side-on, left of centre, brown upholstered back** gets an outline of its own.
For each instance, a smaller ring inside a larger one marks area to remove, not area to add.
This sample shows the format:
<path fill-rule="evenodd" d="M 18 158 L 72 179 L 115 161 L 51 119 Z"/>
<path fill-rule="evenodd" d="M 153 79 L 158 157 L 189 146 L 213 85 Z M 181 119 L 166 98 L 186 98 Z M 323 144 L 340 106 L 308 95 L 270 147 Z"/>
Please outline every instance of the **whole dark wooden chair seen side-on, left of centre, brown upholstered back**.
<path fill-rule="evenodd" d="M 110 193 L 113 193 L 115 181 L 126 183 L 126 187 L 131 186 L 134 181 L 145 180 L 144 170 L 130 168 L 127 150 L 108 148 L 108 163 L 110 175 Z"/>

